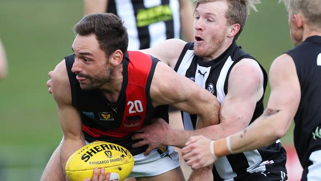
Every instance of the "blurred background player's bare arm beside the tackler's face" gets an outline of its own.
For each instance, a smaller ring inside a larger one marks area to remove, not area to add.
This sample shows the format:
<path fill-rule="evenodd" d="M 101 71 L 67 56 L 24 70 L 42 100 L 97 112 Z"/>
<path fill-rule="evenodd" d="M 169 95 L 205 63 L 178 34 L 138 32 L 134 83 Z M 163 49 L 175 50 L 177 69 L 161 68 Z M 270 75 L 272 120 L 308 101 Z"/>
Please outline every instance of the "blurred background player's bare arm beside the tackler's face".
<path fill-rule="evenodd" d="M 181 26 L 184 39 L 194 41 L 193 33 L 193 7 L 191 0 L 179 0 Z"/>

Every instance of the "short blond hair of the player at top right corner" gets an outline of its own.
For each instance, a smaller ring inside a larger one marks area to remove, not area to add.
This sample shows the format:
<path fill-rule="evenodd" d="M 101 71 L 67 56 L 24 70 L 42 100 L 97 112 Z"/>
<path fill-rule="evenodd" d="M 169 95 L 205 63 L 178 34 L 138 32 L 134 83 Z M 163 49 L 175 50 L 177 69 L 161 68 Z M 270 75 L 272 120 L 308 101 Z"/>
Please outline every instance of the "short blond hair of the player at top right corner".
<path fill-rule="evenodd" d="M 284 0 L 287 11 L 296 14 L 302 13 L 308 20 L 308 25 L 321 27 L 320 0 Z"/>

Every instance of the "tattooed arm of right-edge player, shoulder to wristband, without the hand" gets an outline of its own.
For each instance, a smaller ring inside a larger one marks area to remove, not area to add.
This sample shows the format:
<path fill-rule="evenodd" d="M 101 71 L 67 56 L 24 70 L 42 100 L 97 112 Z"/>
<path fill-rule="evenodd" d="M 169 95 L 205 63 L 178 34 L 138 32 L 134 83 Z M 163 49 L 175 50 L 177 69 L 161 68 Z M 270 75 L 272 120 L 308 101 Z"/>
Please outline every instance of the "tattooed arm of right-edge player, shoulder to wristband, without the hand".
<path fill-rule="evenodd" d="M 267 110 L 251 127 L 231 136 L 233 152 L 269 145 L 284 136 L 291 125 L 301 99 L 300 83 L 292 58 L 287 54 L 278 57 L 271 65 L 269 75 L 271 94 Z"/>

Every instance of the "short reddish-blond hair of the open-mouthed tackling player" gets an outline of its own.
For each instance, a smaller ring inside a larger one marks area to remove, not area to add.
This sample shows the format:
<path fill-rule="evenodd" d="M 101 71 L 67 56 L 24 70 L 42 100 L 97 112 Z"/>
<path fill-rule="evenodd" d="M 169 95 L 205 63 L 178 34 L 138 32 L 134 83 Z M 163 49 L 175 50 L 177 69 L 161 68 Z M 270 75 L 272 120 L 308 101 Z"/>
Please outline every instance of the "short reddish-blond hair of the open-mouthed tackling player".
<path fill-rule="evenodd" d="M 196 7 L 200 3 L 214 2 L 217 0 L 194 0 L 196 2 Z M 261 2 L 261 0 L 226 0 L 229 4 L 229 9 L 226 12 L 226 19 L 230 25 L 240 24 L 240 31 L 235 35 L 234 39 L 237 40 L 241 31 L 245 26 L 247 15 L 249 14 L 249 9 L 252 8 L 254 11 L 258 11 L 255 4 Z"/>

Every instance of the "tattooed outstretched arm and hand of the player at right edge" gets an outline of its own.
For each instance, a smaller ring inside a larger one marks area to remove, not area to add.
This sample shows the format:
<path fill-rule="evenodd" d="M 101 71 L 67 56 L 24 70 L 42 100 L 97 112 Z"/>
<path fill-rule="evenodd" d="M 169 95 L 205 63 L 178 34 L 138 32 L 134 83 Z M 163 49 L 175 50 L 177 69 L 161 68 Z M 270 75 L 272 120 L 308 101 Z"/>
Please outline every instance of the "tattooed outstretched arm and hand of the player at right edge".
<path fill-rule="evenodd" d="M 289 55 L 281 55 L 271 65 L 270 85 L 268 108 L 250 127 L 216 142 L 202 136 L 191 137 L 182 150 L 183 158 L 193 168 L 200 168 L 213 163 L 215 155 L 220 157 L 257 149 L 284 136 L 298 109 L 301 96 L 295 65 Z M 213 145 L 215 155 L 210 153 L 210 144 Z M 204 149 L 201 150 L 201 147 Z M 201 154 L 201 151 L 206 154 Z"/>

